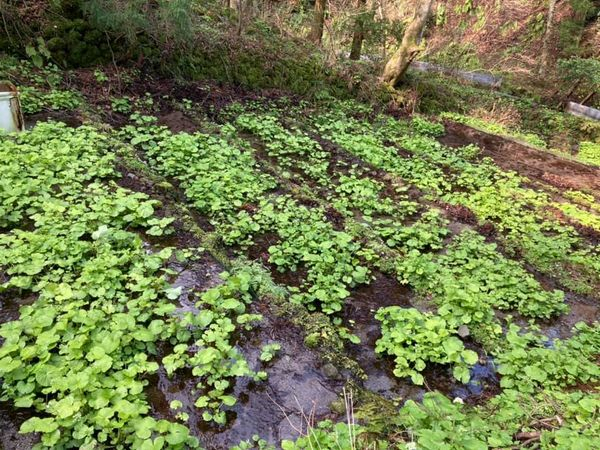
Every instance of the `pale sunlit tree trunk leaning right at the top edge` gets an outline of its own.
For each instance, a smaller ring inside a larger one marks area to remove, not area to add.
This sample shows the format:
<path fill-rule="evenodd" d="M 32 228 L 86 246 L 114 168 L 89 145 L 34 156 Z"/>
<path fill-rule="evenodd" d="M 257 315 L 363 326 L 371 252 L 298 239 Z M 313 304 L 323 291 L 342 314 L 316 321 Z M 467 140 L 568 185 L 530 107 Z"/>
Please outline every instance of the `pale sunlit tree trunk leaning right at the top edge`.
<path fill-rule="evenodd" d="M 419 45 L 419 37 L 427 24 L 431 15 L 431 8 L 434 0 L 420 0 L 415 17 L 410 23 L 404 36 L 400 48 L 392 55 L 383 70 L 382 79 L 392 87 L 396 87 L 400 78 L 404 75 L 410 63 L 421 52 L 422 46 Z"/>

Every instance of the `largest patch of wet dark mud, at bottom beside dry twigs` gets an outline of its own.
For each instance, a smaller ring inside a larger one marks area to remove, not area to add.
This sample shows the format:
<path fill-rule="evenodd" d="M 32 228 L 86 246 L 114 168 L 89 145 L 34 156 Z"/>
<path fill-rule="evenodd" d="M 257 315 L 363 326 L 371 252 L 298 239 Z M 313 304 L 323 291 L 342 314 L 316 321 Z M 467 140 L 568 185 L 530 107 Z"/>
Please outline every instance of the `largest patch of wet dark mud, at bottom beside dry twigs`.
<path fill-rule="evenodd" d="M 232 395 L 238 403 L 227 408 L 228 423 L 218 428 L 202 420 L 201 411 L 194 406 L 194 377 L 180 373 L 169 379 L 162 369 L 151 380 L 147 391 L 153 414 L 174 419 L 169 403 L 179 400 L 179 412 L 189 414 L 188 426 L 204 448 L 224 449 L 260 434 L 272 444 L 282 439 L 295 439 L 311 425 L 325 418 L 337 418 L 330 405 L 339 399 L 343 380 L 333 379 L 324 370 L 318 354 L 303 343 L 303 333 L 285 319 L 273 316 L 269 306 L 257 303 L 252 312 L 263 314 L 263 321 L 247 338 L 241 338 L 238 349 L 251 369 L 266 370 L 268 380 L 254 382 L 249 378 L 234 380 Z M 269 363 L 259 361 L 265 344 L 279 343 L 281 350 Z"/>

